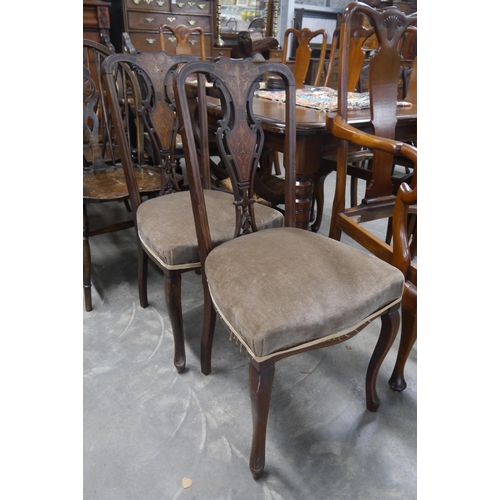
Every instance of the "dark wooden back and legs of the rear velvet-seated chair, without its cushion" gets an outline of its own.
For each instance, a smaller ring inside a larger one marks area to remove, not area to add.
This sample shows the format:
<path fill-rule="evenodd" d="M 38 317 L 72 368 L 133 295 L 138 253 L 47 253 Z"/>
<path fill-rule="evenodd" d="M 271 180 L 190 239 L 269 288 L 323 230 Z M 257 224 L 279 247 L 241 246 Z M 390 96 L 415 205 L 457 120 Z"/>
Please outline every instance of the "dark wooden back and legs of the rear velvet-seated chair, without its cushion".
<path fill-rule="evenodd" d="M 116 54 L 103 64 L 104 84 L 110 100 L 113 125 L 117 133 L 133 218 L 137 227 L 137 210 L 143 201 L 134 171 L 137 157 L 149 152 L 155 165 L 162 169 L 160 195 L 180 190 L 175 174 L 175 137 L 177 118 L 173 100 L 171 77 L 174 69 L 194 56 L 169 56 L 165 52 L 143 52 L 137 55 Z M 117 89 L 123 89 L 121 92 Z M 128 95 L 129 99 L 123 99 Z M 128 122 L 132 120 L 133 126 Z M 130 131 L 139 131 L 131 134 Z M 142 132 L 142 133 L 141 133 Z M 148 142 L 144 140 L 147 138 Z M 140 164 L 140 162 L 139 162 Z M 175 237 L 175 235 L 172 235 Z M 138 288 L 142 307 L 148 307 L 147 267 L 151 259 L 165 275 L 165 302 L 174 336 L 174 364 L 182 372 L 186 363 L 181 307 L 181 279 L 183 272 L 192 269 L 170 270 L 159 264 L 148 249 L 138 242 Z"/>

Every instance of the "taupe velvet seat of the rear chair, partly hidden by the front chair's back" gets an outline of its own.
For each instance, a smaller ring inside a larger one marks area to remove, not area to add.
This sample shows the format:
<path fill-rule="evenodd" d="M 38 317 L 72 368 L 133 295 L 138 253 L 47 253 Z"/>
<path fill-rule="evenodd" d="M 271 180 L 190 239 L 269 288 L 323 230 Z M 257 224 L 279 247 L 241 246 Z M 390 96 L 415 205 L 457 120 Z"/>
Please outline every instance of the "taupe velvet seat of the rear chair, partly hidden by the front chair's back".
<path fill-rule="evenodd" d="M 204 193 L 212 242 L 217 246 L 234 236 L 236 218 L 233 196 L 215 190 Z M 257 203 L 255 219 L 259 229 L 283 226 L 280 212 Z M 142 203 L 137 210 L 137 229 L 141 243 L 160 265 L 167 269 L 200 266 L 188 191 L 159 196 Z"/>

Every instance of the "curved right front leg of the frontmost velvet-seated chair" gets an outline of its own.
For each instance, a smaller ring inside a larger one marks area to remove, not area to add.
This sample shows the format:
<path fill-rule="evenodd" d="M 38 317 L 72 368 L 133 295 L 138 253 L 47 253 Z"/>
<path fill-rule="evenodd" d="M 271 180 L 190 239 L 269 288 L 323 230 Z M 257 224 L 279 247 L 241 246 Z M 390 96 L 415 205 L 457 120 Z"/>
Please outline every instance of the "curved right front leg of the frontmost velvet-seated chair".
<path fill-rule="evenodd" d="M 366 372 L 366 407 L 373 412 L 377 411 L 380 406 L 380 399 L 377 395 L 377 375 L 398 333 L 399 304 L 392 306 L 380 318 L 382 320 L 380 336 Z"/>

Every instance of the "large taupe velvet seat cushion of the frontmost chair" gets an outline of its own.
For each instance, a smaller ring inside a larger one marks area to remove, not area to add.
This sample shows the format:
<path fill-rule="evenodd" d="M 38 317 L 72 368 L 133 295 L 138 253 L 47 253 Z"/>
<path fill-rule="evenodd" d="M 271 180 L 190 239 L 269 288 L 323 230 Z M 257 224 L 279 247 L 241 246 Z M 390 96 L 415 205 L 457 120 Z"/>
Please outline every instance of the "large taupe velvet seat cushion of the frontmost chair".
<path fill-rule="evenodd" d="M 206 274 L 216 309 L 256 358 L 352 331 L 401 300 L 404 284 L 377 257 L 295 228 L 219 246 Z"/>

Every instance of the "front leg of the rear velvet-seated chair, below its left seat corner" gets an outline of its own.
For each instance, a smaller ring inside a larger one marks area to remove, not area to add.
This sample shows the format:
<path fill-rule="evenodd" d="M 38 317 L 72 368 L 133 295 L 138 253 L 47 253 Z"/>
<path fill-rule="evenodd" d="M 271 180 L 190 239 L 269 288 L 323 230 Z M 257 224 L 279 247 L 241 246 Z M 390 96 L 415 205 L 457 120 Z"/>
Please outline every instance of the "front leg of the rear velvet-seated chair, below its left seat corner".
<path fill-rule="evenodd" d="M 164 279 L 165 302 L 174 336 L 174 365 L 179 373 L 186 368 L 184 325 L 182 321 L 181 273 L 166 272 Z"/>

